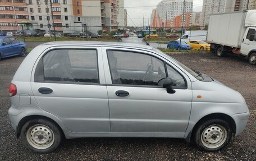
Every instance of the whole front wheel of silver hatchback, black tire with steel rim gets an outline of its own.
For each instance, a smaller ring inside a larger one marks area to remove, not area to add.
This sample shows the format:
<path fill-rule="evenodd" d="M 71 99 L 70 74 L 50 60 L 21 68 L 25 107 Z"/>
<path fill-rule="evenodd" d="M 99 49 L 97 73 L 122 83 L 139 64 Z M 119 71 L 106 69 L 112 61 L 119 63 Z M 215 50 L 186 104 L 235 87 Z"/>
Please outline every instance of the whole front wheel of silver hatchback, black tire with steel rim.
<path fill-rule="evenodd" d="M 199 149 L 204 151 L 218 151 L 230 142 L 231 126 L 223 119 L 209 119 L 195 127 L 193 139 Z"/>

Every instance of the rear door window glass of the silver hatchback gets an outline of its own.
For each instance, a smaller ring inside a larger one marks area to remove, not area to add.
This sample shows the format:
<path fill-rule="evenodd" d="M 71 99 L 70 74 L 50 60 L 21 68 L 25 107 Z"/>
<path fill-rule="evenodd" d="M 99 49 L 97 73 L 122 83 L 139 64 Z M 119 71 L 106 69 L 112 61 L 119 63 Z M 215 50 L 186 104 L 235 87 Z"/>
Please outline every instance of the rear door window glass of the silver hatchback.
<path fill-rule="evenodd" d="M 45 54 L 35 70 L 35 82 L 99 83 L 97 50 L 59 49 Z"/>

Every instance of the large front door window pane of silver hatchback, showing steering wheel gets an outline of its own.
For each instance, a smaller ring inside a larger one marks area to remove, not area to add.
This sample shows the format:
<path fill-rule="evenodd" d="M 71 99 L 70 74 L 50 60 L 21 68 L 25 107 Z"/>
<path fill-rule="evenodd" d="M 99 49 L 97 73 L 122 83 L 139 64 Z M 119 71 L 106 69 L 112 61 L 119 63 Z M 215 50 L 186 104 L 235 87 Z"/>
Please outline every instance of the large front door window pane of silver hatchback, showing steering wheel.
<path fill-rule="evenodd" d="M 164 63 L 148 54 L 108 50 L 112 84 L 158 85 L 166 77 Z"/>

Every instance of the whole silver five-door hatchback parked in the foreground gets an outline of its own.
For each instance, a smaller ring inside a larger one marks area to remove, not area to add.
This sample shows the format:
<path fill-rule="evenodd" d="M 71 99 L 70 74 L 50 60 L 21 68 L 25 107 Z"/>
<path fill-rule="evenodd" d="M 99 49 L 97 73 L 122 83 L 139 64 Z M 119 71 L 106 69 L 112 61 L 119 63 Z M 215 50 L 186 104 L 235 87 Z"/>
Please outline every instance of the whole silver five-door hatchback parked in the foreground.
<path fill-rule="evenodd" d="M 249 117 L 237 91 L 147 45 L 39 45 L 9 92 L 12 127 L 38 153 L 63 137 L 174 137 L 217 151 Z"/>

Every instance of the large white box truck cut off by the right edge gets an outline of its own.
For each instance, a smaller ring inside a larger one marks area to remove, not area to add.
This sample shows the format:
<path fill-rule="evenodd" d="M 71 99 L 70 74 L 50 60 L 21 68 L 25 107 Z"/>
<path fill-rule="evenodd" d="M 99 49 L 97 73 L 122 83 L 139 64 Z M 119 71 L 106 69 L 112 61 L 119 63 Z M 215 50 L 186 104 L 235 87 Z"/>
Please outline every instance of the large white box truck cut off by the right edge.
<path fill-rule="evenodd" d="M 249 58 L 256 65 L 256 10 L 210 16 L 207 41 L 221 57 L 229 52 Z"/>

